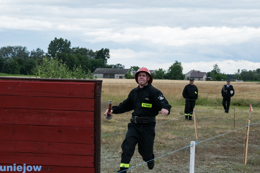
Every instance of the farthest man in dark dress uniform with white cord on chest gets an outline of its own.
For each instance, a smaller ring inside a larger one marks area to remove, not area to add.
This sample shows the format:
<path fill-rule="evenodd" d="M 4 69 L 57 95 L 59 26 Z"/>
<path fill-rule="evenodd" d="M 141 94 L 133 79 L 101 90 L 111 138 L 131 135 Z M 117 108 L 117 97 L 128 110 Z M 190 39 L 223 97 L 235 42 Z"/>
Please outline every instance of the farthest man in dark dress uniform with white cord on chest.
<path fill-rule="evenodd" d="M 227 84 L 223 85 L 221 94 L 223 97 L 222 105 L 224 107 L 225 113 L 228 114 L 231 97 L 235 94 L 233 86 L 230 85 L 230 80 L 227 80 Z"/>

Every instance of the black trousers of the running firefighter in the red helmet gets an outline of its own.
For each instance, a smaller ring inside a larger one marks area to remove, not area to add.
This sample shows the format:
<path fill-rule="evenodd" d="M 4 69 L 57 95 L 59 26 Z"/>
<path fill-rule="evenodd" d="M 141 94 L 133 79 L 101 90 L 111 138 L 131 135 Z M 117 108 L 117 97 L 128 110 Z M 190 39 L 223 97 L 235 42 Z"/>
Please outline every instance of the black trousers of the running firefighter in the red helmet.
<path fill-rule="evenodd" d="M 138 152 L 145 162 L 154 159 L 153 144 L 155 138 L 155 122 L 128 123 L 126 137 L 121 145 L 121 163 L 129 164 L 138 144 Z"/>

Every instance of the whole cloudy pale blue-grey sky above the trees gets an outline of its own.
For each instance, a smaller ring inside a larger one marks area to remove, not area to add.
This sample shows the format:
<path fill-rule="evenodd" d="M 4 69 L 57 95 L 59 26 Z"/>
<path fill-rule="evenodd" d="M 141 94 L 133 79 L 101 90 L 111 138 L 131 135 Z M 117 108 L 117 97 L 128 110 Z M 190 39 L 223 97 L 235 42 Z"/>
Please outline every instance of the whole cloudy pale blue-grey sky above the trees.
<path fill-rule="evenodd" d="M 108 64 L 221 73 L 260 68 L 259 0 L 0 0 L 0 47 L 108 48 Z"/>

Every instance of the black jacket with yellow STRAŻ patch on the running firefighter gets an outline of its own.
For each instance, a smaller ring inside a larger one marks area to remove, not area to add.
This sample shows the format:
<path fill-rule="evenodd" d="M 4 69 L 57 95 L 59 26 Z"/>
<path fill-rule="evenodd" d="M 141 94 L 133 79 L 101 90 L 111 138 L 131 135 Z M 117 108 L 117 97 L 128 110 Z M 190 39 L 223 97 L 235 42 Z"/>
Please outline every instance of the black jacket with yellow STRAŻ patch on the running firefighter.
<path fill-rule="evenodd" d="M 127 99 L 118 106 L 113 106 L 112 110 L 114 114 L 134 110 L 132 116 L 147 117 L 158 115 L 162 108 L 167 109 L 170 114 L 171 107 L 162 92 L 148 84 L 143 88 L 138 86 L 132 89 Z"/>

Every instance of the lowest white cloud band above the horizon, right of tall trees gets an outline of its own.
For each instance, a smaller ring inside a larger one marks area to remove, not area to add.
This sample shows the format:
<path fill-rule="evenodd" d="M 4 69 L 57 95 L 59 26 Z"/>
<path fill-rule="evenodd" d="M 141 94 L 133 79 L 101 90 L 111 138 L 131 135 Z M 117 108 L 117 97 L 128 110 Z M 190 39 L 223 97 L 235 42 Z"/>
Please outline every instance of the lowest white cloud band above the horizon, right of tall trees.
<path fill-rule="evenodd" d="M 158 58 L 159 55 L 154 52 L 134 52 L 130 49 L 110 50 L 111 58 L 108 59 L 108 64 L 122 64 L 125 68 L 131 66 L 144 66 L 150 70 L 158 70 L 162 68 L 168 70 L 168 68 L 175 63 L 176 59 Z M 194 61 L 184 62 L 183 60 L 177 60 L 181 62 L 183 67 L 183 73 L 186 74 L 191 70 L 199 70 L 201 72 L 210 72 L 213 70 L 213 66 L 218 64 L 221 73 L 234 74 L 238 69 L 256 70 L 260 67 L 260 63 L 251 62 L 247 60 L 223 60 L 223 61 Z"/>

